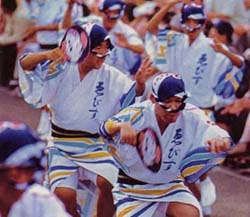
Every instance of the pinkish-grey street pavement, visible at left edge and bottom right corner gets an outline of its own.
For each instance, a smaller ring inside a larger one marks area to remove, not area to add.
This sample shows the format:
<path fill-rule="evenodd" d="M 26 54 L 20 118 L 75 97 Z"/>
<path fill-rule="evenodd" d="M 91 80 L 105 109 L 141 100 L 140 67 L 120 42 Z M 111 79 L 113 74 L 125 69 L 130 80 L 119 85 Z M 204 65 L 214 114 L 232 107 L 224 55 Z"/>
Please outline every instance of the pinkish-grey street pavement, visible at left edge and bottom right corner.
<path fill-rule="evenodd" d="M 36 129 L 39 118 L 39 109 L 0 87 L 0 120 L 18 120 Z M 217 191 L 212 217 L 250 217 L 250 178 L 223 166 L 211 171 L 210 177 Z"/>

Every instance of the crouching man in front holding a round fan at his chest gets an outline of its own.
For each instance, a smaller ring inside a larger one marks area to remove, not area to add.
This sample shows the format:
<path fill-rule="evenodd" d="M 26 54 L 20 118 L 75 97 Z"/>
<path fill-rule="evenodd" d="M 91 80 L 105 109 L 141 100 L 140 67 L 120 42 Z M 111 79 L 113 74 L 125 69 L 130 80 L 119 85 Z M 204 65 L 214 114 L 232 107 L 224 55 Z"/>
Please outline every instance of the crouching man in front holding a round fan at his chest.
<path fill-rule="evenodd" d="M 186 99 L 179 74 L 160 74 L 153 80 L 150 100 L 101 125 L 122 171 L 113 189 L 117 216 L 202 216 L 184 183 L 195 182 L 221 163 L 231 139 Z"/>

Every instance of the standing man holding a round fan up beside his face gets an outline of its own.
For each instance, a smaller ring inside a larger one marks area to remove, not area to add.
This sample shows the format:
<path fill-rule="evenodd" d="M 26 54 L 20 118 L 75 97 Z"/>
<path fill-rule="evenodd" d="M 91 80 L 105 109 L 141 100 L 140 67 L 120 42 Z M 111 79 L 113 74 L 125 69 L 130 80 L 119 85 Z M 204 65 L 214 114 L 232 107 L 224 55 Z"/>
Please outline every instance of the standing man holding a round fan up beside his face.
<path fill-rule="evenodd" d="M 107 31 L 88 23 L 85 29 L 70 28 L 61 48 L 31 53 L 20 60 L 24 99 L 38 108 L 49 104 L 52 110 L 50 185 L 74 217 L 84 215 L 77 206 L 79 170 L 91 174 L 91 179 L 85 178 L 99 189 L 97 216 L 112 216 L 111 188 L 117 179 L 117 167 L 98 127 L 105 118 L 133 103 L 135 96 L 142 95 L 145 79 L 150 76 L 147 72 L 151 63 L 147 60 L 135 82 L 104 63 L 112 48 Z M 74 54 L 83 51 L 83 56 L 65 61 L 69 53 L 63 53 L 64 49 Z"/>

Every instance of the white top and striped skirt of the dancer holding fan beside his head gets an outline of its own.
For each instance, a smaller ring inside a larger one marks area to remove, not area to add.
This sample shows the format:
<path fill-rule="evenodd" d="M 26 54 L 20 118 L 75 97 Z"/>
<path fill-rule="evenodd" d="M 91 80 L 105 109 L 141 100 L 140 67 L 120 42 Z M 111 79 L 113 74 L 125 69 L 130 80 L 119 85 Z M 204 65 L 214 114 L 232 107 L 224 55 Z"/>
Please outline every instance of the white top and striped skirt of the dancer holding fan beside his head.
<path fill-rule="evenodd" d="M 38 65 L 34 71 L 20 70 L 19 82 L 25 101 L 34 107 L 49 104 L 52 122 L 67 130 L 98 133 L 101 121 L 135 99 L 135 82 L 106 64 L 90 71 L 81 81 L 78 65 L 45 63 Z M 118 169 L 102 138 L 52 139 L 53 146 L 49 148 L 49 182 L 52 190 L 65 186 L 67 178 L 74 175 L 79 167 L 115 184 Z M 77 190 L 81 192 L 81 189 Z M 89 213 L 93 210 L 89 201 L 86 198 L 79 201 L 82 216 L 91 216 Z"/>

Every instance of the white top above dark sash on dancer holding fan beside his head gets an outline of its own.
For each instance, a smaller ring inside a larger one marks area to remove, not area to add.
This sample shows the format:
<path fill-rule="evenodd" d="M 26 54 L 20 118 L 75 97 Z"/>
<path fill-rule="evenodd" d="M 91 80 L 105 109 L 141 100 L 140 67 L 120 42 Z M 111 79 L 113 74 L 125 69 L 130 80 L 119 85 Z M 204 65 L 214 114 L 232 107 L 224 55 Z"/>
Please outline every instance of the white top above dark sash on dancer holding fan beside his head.
<path fill-rule="evenodd" d="M 38 66 L 33 72 L 20 72 L 25 100 L 35 107 L 49 104 L 52 122 L 61 128 L 97 133 L 99 124 L 119 111 L 121 97 L 133 81 L 115 68 L 103 64 L 81 81 L 78 66 L 56 66 L 55 72 Z"/>

